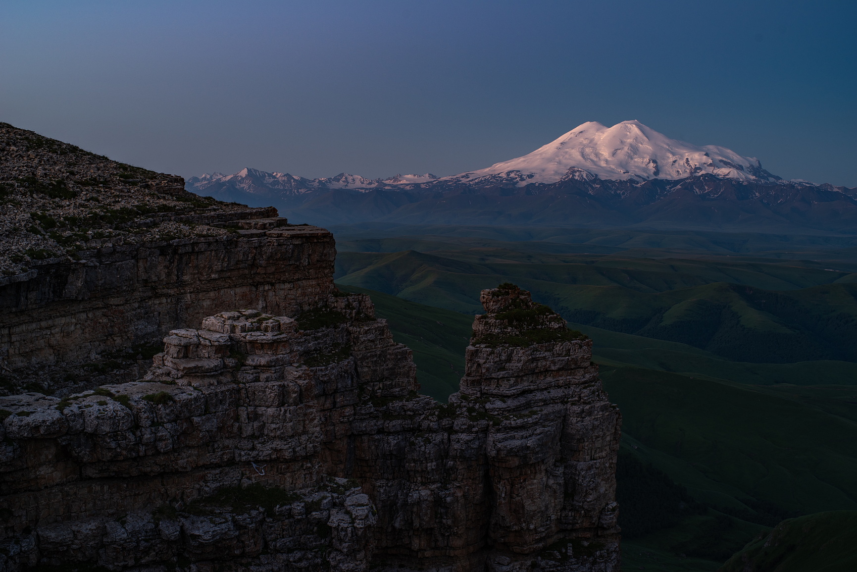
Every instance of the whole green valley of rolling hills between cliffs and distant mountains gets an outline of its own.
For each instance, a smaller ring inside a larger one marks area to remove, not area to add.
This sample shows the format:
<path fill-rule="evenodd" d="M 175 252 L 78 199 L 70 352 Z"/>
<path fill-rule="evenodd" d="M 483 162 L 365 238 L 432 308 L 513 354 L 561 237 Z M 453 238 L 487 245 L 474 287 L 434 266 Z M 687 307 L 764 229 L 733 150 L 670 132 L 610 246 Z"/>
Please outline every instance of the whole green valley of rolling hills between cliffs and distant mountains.
<path fill-rule="evenodd" d="M 362 232 L 338 238 L 340 287 L 373 297 L 436 399 L 484 287 L 528 288 L 592 338 L 624 416 L 624 569 L 715 570 L 783 519 L 857 510 L 850 263 Z"/>

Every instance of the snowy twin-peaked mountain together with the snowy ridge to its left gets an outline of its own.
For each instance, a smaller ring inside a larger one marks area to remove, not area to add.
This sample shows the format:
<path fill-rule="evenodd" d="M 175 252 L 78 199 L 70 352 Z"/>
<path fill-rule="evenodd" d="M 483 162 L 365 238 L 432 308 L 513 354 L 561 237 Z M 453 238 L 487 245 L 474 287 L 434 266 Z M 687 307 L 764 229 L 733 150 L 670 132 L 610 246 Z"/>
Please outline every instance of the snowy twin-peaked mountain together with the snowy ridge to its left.
<path fill-rule="evenodd" d="M 426 173 L 381 179 L 339 173 L 335 177 L 309 179 L 289 173 L 244 168 L 231 175 L 215 172 L 191 178 L 189 184 L 194 190 L 229 185 L 251 193 L 261 187 L 301 193 L 317 189 L 427 188 L 439 184 L 524 186 L 594 178 L 643 182 L 651 179 L 678 180 L 703 174 L 753 182 L 782 180 L 765 171 L 754 157 L 744 157 L 716 145 L 699 147 L 670 139 L 634 120 L 616 123 L 613 127 L 596 121 L 583 123 L 523 157 L 449 177 L 438 178 Z"/>

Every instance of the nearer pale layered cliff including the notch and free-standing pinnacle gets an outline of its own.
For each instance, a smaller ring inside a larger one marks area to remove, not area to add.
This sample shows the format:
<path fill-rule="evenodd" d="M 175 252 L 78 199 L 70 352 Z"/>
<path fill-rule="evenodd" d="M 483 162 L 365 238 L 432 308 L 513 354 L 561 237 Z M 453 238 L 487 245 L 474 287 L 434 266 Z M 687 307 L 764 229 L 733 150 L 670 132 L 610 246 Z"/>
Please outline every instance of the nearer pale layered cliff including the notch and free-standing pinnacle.
<path fill-rule="evenodd" d="M 0 569 L 618 570 L 589 340 L 483 291 L 438 404 L 369 298 L 304 303 L 173 330 L 136 382 L 0 398 Z"/>

